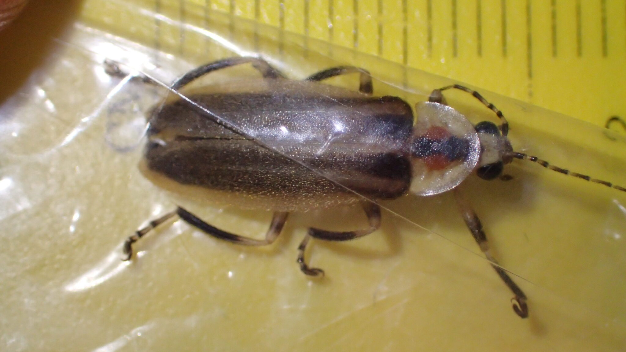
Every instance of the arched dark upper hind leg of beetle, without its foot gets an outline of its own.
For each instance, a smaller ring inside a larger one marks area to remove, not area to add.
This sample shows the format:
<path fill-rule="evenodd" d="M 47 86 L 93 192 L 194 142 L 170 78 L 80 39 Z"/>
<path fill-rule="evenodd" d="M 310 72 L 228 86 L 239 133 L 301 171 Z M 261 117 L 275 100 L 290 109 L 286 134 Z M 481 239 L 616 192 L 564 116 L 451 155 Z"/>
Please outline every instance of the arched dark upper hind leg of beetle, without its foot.
<path fill-rule="evenodd" d="M 276 70 L 274 67 L 272 67 L 272 65 L 270 65 L 267 61 L 263 59 L 235 56 L 233 58 L 218 60 L 212 63 L 208 63 L 206 65 L 202 65 L 198 68 L 194 68 L 193 70 L 185 73 L 185 75 L 177 78 L 177 80 L 172 83 L 171 88 L 173 90 L 178 90 L 188 83 L 191 83 L 193 80 L 207 75 L 207 73 L 222 70 L 222 68 L 242 65 L 245 63 L 252 64 L 252 67 L 257 69 L 264 78 L 285 78 L 285 76 L 280 73 L 279 70 Z"/>

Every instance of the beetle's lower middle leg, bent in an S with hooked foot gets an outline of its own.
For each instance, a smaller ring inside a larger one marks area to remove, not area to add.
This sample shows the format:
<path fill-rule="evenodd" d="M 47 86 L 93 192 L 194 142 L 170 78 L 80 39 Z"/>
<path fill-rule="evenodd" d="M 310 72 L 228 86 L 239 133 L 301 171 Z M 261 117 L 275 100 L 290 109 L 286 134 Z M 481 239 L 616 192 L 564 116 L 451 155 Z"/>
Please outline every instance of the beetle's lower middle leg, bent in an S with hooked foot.
<path fill-rule="evenodd" d="M 324 271 L 317 267 L 309 267 L 307 263 L 304 261 L 304 251 L 309 244 L 309 240 L 313 237 L 316 239 L 323 239 L 326 241 L 349 241 L 351 239 L 356 239 L 359 237 L 363 237 L 371 234 L 376 231 L 379 227 L 381 227 L 381 208 L 369 200 L 364 200 L 361 202 L 363 210 L 365 210 L 365 214 L 367 215 L 367 222 L 369 222 L 369 228 L 355 231 L 345 231 L 345 232 L 334 232 L 316 229 L 314 227 L 309 228 L 309 232 L 304 237 L 300 246 L 298 246 L 298 259 L 297 262 L 300 264 L 300 270 L 304 272 L 304 274 L 310 276 L 319 276 L 324 275 Z"/>

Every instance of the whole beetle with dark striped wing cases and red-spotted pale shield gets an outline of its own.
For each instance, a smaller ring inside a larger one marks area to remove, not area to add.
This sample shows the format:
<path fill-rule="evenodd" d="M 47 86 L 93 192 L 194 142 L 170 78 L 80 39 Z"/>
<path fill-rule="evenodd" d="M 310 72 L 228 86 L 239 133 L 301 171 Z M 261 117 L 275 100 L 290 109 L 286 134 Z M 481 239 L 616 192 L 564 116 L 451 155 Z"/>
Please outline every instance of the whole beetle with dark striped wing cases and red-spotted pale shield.
<path fill-rule="evenodd" d="M 123 75 L 108 62 L 108 73 Z M 224 68 L 251 64 L 261 77 L 244 85 L 204 86 L 182 95 L 180 89 Z M 334 76 L 358 73 L 359 90 L 326 85 Z M 143 80 L 156 83 L 146 76 Z M 500 119 L 473 125 L 443 95 L 461 90 Z M 152 220 L 123 244 L 128 261 L 133 244 L 150 230 L 178 216 L 206 234 L 245 246 L 272 244 L 289 212 L 360 203 L 369 226 L 334 232 L 310 227 L 298 247 L 297 263 L 309 276 L 305 250 L 311 239 L 349 241 L 381 225 L 378 200 L 405 194 L 453 192 L 461 216 L 491 266 L 513 292 L 513 310 L 528 317 L 526 294 L 498 265 L 478 215 L 458 192 L 470 173 L 484 180 L 503 179 L 505 164 L 530 160 L 550 170 L 626 192 L 610 182 L 555 167 L 515 152 L 503 113 L 480 93 L 461 85 L 432 91 L 414 110 L 396 96 L 374 96 L 369 72 L 338 66 L 302 81 L 290 80 L 267 61 L 234 57 L 208 63 L 180 76 L 170 86 L 177 93 L 148 116 L 147 143 L 140 170 L 153 184 L 192 199 L 222 200 L 247 209 L 274 211 L 265 239 L 239 236 L 208 224 L 183 207 Z"/>

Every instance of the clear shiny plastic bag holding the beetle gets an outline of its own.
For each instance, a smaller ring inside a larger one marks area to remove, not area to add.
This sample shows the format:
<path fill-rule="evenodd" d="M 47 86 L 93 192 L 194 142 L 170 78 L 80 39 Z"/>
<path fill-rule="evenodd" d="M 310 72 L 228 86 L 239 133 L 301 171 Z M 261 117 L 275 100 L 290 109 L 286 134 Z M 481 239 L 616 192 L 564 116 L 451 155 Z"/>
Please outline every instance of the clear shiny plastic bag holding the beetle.
<path fill-rule="evenodd" d="M 200 8 L 180 23 L 135 4 L 113 4 L 146 23 L 158 19 L 162 31 L 184 31 L 188 46 L 202 46 L 184 55 L 175 42 L 155 49 L 86 18 L 59 38 L 31 84 L 0 107 L 7 350 L 623 348 L 624 196 L 521 160 L 505 168 L 513 180 L 469 175 L 459 187 L 495 257 L 528 295 L 526 320 L 511 310 L 511 292 L 447 193 L 382 201 L 382 228 L 358 241 L 313 241 L 307 257 L 326 270 L 323 279 L 299 271 L 296 247 L 310 226 L 363 228 L 359 207 L 291 214 L 267 247 L 228 244 L 177 220 L 141 239 L 138 257 L 122 262 L 126 237 L 175 207 L 136 165 L 145 116 L 175 94 L 166 86 L 177 76 L 229 56 L 260 55 L 294 80 L 355 65 L 371 71 L 375 95 L 399 96 L 411 106 L 453 82 L 218 13 L 205 22 Z M 111 77 L 105 60 L 166 86 Z M 242 77 L 258 73 L 242 66 L 202 81 L 228 85 Z M 357 77 L 327 83 L 356 89 Z M 515 150 L 626 184 L 622 137 L 481 93 L 505 112 Z M 466 93 L 445 94 L 471 122 L 497 122 Z M 275 140 L 260 142 L 278 148 Z M 193 211 L 255 238 L 270 221 L 270 212 L 233 206 Z"/>

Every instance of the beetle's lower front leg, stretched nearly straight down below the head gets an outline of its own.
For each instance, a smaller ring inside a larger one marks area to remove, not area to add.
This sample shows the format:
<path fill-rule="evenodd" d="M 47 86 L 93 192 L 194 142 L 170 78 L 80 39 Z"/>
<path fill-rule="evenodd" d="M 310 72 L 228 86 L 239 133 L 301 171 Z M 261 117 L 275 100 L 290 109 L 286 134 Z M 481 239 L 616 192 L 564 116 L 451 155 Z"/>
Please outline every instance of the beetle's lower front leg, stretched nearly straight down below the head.
<path fill-rule="evenodd" d="M 493 269 L 498 273 L 500 279 L 505 282 L 506 287 L 508 287 L 511 292 L 515 294 L 515 297 L 511 299 L 511 302 L 513 303 L 513 311 L 515 311 L 520 318 L 527 318 L 528 304 L 526 304 L 526 294 L 524 291 L 521 291 L 520 286 L 517 286 L 515 281 L 511 279 L 505 269 L 502 269 L 502 267 L 498 264 L 498 261 L 491 256 L 491 252 L 489 251 L 489 242 L 487 241 L 487 236 L 483 230 L 483 224 L 481 224 L 480 219 L 478 219 L 478 215 L 476 215 L 476 212 L 471 209 L 467 200 L 464 199 L 461 191 L 454 189 L 453 192 L 454 197 L 456 198 L 456 204 L 461 212 L 461 216 L 463 216 L 463 220 L 476 240 L 478 247 L 480 247 L 480 250 L 483 254 L 485 254 L 485 257 L 491 262 L 491 267 L 493 267 Z"/>

